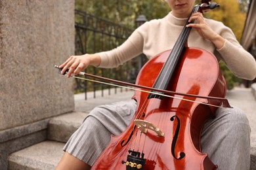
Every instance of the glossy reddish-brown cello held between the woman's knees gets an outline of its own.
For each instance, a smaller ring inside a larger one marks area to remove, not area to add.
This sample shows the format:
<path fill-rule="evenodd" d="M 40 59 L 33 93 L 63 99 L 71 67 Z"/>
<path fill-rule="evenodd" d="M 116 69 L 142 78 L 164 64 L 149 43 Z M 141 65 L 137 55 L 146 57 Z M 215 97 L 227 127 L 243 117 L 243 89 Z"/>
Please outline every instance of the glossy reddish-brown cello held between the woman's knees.
<path fill-rule="evenodd" d="M 202 5 L 196 5 L 192 12 L 217 6 L 202 0 Z M 190 29 L 184 26 L 172 50 L 158 54 L 142 67 L 136 84 L 224 97 L 226 83 L 215 56 L 200 48 L 186 47 Z M 200 137 L 204 122 L 214 117 L 216 107 L 212 105 L 221 102 L 187 95 L 177 99 L 177 94 L 163 97 L 163 92 L 152 92 L 135 92 L 137 110 L 133 120 L 123 133 L 111 137 L 92 169 L 217 169 L 201 152 Z"/>

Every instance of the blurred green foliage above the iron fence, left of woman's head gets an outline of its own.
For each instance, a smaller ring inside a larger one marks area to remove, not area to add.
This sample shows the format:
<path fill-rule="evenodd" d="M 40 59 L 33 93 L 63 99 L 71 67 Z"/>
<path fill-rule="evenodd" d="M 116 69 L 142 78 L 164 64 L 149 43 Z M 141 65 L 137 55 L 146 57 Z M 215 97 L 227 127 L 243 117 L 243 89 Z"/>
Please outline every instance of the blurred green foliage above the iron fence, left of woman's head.
<path fill-rule="evenodd" d="M 76 0 L 75 9 L 86 10 L 89 14 L 133 28 L 140 14 L 152 20 L 162 18 L 170 10 L 164 0 Z"/>

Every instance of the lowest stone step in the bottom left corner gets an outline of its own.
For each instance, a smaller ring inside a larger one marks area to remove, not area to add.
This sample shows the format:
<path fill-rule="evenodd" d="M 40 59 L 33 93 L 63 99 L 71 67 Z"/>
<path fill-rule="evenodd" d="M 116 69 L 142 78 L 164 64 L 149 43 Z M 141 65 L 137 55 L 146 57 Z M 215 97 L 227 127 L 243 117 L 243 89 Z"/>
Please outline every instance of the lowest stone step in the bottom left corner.
<path fill-rule="evenodd" d="M 9 156 L 10 170 L 51 170 L 62 158 L 64 151 L 62 150 L 64 143 L 56 141 L 44 141 L 18 152 L 14 152 Z"/>

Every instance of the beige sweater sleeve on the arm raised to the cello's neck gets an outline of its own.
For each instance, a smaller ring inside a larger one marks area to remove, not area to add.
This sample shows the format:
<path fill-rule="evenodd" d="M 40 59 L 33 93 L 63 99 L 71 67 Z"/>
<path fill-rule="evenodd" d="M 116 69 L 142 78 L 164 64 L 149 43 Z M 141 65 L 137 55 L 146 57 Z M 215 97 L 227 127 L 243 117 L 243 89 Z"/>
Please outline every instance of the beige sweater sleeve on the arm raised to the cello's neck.
<path fill-rule="evenodd" d="M 228 27 L 224 26 L 219 34 L 225 39 L 225 42 L 217 52 L 221 54 L 221 59 L 226 63 L 228 69 L 239 78 L 253 80 L 256 76 L 256 62 L 253 56 L 244 50 Z"/>

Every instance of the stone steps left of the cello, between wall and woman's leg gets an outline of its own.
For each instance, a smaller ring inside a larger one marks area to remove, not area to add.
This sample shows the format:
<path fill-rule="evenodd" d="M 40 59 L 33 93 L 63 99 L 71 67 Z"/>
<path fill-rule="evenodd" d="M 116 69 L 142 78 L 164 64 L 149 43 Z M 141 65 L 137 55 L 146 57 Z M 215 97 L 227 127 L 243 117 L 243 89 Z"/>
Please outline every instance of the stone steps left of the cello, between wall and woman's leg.
<path fill-rule="evenodd" d="M 84 94 L 75 95 L 75 111 L 51 118 L 48 122 L 47 141 L 12 153 L 8 158 L 8 169 L 54 169 L 64 154 L 62 150 L 64 144 L 91 109 L 97 105 L 131 99 L 133 93 L 131 91 L 115 93 L 112 90 L 111 95 L 108 95 L 108 91 L 104 91 L 104 97 L 100 96 L 101 92 L 97 92 L 96 98 L 93 97 L 93 93 L 88 93 L 87 100 Z"/>

